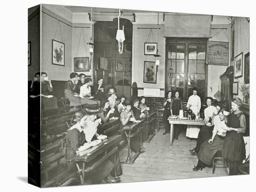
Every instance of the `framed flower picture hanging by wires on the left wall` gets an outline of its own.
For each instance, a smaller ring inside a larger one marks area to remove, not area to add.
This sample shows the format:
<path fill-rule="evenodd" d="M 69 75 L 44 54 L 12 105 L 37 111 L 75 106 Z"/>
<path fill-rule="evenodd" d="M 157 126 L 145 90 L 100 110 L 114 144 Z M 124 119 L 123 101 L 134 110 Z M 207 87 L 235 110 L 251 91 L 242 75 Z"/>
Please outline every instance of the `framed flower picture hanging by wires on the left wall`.
<path fill-rule="evenodd" d="M 65 44 L 52 40 L 52 64 L 65 66 Z"/>

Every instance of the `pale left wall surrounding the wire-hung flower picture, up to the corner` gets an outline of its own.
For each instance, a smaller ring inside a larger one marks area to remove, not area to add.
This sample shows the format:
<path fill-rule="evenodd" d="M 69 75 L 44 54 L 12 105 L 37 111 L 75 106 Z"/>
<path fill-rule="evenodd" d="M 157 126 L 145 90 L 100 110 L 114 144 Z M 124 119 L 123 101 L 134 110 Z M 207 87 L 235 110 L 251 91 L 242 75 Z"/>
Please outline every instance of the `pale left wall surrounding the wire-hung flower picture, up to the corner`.
<path fill-rule="evenodd" d="M 56 30 L 58 24 L 57 19 L 63 20 L 65 23 L 68 23 L 68 21 L 62 19 L 61 17 L 58 17 L 58 15 L 55 14 L 55 12 L 57 12 L 55 6 L 46 7 L 46 5 L 43 5 L 42 11 L 41 70 L 45 71 L 48 74 L 49 78 L 52 80 L 67 81 L 67 79 L 69 79 L 70 73 L 73 70 L 72 27 L 60 22 L 58 29 Z M 48 14 L 54 16 L 57 19 L 54 19 Z M 55 32 L 56 36 L 54 38 Z M 52 64 L 52 39 L 61 41 L 65 44 L 65 66 Z"/>

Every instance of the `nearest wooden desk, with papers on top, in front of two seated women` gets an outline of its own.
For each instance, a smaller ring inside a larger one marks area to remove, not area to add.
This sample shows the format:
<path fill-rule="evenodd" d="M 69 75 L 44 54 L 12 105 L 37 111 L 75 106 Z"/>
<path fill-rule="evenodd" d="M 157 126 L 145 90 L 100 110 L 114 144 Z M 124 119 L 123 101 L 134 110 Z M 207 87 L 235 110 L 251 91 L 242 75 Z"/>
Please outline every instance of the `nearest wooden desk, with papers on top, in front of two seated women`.
<path fill-rule="evenodd" d="M 114 135 L 103 140 L 99 145 L 88 148 L 77 155 L 67 159 L 64 163 L 74 162 L 78 169 L 81 171 L 80 179 L 81 185 L 85 181 L 85 172 L 92 171 L 95 167 L 99 166 L 103 161 L 107 160 L 111 155 L 117 153 L 118 147 L 116 145 L 121 141 L 121 135 Z M 83 155 L 80 155 L 80 154 Z M 103 155 L 101 158 L 96 158 L 99 155 Z M 95 160 L 96 159 L 96 160 Z M 79 165 L 81 163 L 81 165 Z M 115 163 L 114 163 L 115 164 Z M 116 170 L 115 170 L 116 171 Z"/>

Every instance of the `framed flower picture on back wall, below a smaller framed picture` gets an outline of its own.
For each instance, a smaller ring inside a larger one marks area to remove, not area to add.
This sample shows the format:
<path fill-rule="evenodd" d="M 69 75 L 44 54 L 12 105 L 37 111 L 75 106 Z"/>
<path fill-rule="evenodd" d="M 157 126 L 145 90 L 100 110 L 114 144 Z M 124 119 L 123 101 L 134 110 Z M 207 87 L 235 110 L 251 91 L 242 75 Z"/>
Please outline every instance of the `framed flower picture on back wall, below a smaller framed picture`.
<path fill-rule="evenodd" d="M 156 66 L 153 61 L 144 61 L 143 83 L 156 83 Z"/>

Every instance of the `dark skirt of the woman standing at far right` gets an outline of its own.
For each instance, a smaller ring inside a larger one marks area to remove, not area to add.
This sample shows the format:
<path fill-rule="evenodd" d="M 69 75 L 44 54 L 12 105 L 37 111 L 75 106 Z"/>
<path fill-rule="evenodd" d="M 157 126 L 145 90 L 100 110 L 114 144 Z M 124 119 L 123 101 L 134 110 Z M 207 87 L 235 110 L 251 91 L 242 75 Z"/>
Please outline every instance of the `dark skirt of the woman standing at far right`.
<path fill-rule="evenodd" d="M 226 133 L 223 143 L 222 157 L 231 161 L 245 160 L 245 144 L 243 134 L 237 134 L 236 131 Z"/>

